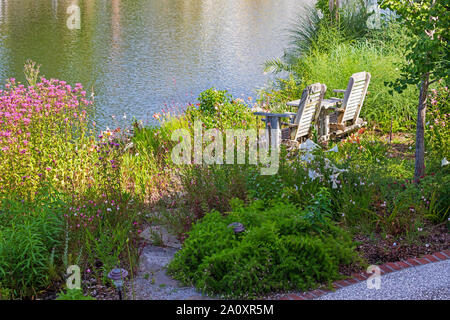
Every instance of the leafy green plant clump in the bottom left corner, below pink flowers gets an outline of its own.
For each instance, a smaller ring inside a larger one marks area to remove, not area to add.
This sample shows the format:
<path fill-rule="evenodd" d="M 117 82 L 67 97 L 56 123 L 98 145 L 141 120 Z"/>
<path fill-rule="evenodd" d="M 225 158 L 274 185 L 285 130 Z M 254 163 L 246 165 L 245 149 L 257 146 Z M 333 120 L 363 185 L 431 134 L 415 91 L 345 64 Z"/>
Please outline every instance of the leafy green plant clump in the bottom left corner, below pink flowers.
<path fill-rule="evenodd" d="M 64 203 L 43 190 L 35 201 L 11 196 L 0 205 L 0 288 L 36 294 L 58 278 Z"/>

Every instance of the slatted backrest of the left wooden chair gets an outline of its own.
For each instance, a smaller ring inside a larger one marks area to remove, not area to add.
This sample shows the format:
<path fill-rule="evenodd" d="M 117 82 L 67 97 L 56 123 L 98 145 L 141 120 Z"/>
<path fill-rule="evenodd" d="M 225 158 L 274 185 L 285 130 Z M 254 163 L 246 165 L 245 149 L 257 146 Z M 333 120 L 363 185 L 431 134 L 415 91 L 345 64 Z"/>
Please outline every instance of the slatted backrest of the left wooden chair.
<path fill-rule="evenodd" d="M 294 120 L 294 123 L 298 124 L 295 140 L 308 135 L 312 119 L 320 108 L 326 90 L 327 86 L 321 83 L 311 84 L 303 90 Z"/>

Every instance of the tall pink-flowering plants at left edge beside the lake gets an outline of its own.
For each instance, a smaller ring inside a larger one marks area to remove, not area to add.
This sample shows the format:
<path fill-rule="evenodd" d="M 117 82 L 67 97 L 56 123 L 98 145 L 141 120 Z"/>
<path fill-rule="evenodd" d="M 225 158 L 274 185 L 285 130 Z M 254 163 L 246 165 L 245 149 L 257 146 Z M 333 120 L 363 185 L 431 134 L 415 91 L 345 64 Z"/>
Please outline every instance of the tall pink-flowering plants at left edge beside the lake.
<path fill-rule="evenodd" d="M 0 194 L 33 195 L 42 182 L 88 180 L 86 91 L 41 78 L 34 86 L 8 79 L 0 90 Z"/>

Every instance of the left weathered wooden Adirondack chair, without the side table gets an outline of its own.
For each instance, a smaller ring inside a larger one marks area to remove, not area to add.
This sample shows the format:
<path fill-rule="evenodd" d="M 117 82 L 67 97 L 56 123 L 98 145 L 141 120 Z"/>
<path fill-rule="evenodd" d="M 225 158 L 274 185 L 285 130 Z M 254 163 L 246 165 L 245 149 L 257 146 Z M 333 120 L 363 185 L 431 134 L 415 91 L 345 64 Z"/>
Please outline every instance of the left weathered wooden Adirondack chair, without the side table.
<path fill-rule="evenodd" d="M 295 118 L 291 123 L 282 123 L 287 128 L 281 130 L 283 140 L 302 141 L 308 137 L 311 131 L 313 118 L 317 119 L 320 105 L 322 103 L 327 86 L 321 83 L 314 83 L 305 88 L 299 100 L 288 102 L 288 106 L 298 107 Z"/>

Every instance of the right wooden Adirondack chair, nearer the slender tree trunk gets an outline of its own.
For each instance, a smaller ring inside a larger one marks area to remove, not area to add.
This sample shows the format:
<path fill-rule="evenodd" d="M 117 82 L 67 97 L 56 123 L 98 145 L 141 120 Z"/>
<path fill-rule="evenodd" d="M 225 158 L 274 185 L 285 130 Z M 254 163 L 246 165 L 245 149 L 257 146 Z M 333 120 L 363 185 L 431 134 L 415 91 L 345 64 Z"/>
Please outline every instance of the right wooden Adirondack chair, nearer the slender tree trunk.
<path fill-rule="evenodd" d="M 344 98 L 324 99 L 319 123 L 319 134 L 322 140 L 328 140 L 331 136 L 340 136 L 359 129 L 366 122 L 359 118 L 367 88 L 370 83 L 370 73 L 354 73 L 348 82 L 346 90 L 333 90 L 344 93 Z M 334 110 L 329 114 L 328 110 Z"/>

